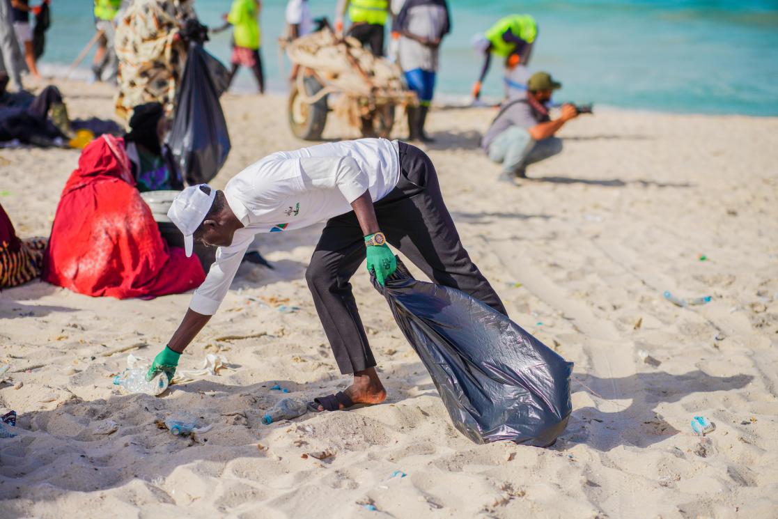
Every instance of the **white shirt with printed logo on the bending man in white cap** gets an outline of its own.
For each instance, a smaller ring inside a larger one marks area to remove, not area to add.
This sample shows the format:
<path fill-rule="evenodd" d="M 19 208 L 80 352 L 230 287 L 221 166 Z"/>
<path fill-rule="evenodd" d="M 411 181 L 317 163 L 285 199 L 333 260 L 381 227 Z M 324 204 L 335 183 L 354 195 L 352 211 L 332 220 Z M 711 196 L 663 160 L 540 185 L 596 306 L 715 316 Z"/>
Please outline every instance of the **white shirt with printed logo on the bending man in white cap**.
<path fill-rule="evenodd" d="M 273 153 L 247 167 L 224 188 L 227 204 L 244 227 L 235 231 L 229 247 L 216 251 L 216 262 L 189 307 L 216 314 L 256 234 L 300 229 L 345 214 L 365 191 L 377 202 L 399 178 L 398 143 L 386 139 Z"/>

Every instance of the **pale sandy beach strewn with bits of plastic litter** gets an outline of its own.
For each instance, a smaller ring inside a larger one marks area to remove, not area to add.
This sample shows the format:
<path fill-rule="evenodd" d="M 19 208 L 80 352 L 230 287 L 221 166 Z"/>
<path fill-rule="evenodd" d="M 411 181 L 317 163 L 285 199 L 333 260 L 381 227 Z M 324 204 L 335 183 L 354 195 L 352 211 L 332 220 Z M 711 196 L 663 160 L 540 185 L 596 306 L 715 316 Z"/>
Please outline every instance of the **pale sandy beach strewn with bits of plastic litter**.
<path fill-rule="evenodd" d="M 110 90 L 62 86 L 75 116 L 110 117 Z M 286 100 L 224 104 L 233 152 L 216 186 L 304 146 Z M 778 119 L 581 117 L 563 129 L 564 153 L 528 170 L 540 180 L 506 187 L 476 149 L 493 114 L 433 112 L 429 155 L 511 316 L 576 363 L 573 416 L 554 447 L 478 446 L 457 433 L 363 269 L 353 282 L 386 404 L 261 425 L 279 398 L 273 384 L 313 397 L 349 382 L 303 279 L 311 228 L 261 238 L 276 270 L 242 267 L 181 362 L 218 351 L 234 369 L 162 398 L 118 395 L 111 376 L 126 353 L 101 355 L 137 342 L 148 347 L 136 354 L 156 354 L 189 295 L 93 299 L 37 282 L 0 293 L 0 363 L 16 370 L 0 409 L 19 412 L 20 433 L 0 440 L 0 516 L 776 517 Z M 0 203 L 20 235 L 48 233 L 77 159 L 0 150 L 0 191 L 10 191 Z M 713 301 L 682 309 L 664 290 Z M 214 424 L 202 443 L 155 426 L 181 409 Z M 696 415 L 717 426 L 703 441 Z M 99 434 L 107 420 L 118 430 Z M 334 458 L 301 458 L 328 449 Z M 390 479 L 397 470 L 407 476 Z"/>

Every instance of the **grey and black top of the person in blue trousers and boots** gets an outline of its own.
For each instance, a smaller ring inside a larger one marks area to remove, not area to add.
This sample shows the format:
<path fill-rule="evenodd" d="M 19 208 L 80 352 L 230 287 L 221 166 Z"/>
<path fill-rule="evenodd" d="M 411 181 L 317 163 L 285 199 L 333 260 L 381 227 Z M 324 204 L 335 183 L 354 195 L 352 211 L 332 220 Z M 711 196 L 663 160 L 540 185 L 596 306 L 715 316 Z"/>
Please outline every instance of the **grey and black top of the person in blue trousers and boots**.
<path fill-rule="evenodd" d="M 395 31 L 407 31 L 428 40 L 442 38 L 450 28 L 448 5 L 444 0 L 405 0 L 393 26 Z M 398 49 L 400 66 L 405 71 L 422 68 L 436 72 L 439 48 L 426 47 L 402 36 Z"/>

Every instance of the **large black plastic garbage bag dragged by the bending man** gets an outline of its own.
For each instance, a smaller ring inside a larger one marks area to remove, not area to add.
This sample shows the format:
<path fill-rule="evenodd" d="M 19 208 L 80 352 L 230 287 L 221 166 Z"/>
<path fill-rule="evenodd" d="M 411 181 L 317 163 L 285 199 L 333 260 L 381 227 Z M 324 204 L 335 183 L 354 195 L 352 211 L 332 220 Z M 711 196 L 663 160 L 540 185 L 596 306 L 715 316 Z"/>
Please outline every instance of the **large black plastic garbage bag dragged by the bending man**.
<path fill-rule="evenodd" d="M 394 319 L 432 376 L 454 426 L 477 444 L 548 447 L 573 405 L 567 362 L 468 294 L 398 271 L 380 286 Z"/>

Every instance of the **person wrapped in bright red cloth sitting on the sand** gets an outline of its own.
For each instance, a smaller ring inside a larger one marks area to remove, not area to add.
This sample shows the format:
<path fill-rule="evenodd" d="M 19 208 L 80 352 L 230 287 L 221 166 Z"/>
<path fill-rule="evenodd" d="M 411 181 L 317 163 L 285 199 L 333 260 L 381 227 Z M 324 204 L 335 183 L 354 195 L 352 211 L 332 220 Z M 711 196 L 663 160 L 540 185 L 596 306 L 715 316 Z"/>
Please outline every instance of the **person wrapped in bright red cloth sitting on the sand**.
<path fill-rule="evenodd" d="M 42 279 L 125 299 L 186 292 L 205 272 L 197 257 L 165 244 L 135 188 L 124 140 L 102 135 L 83 150 L 62 191 Z"/>

